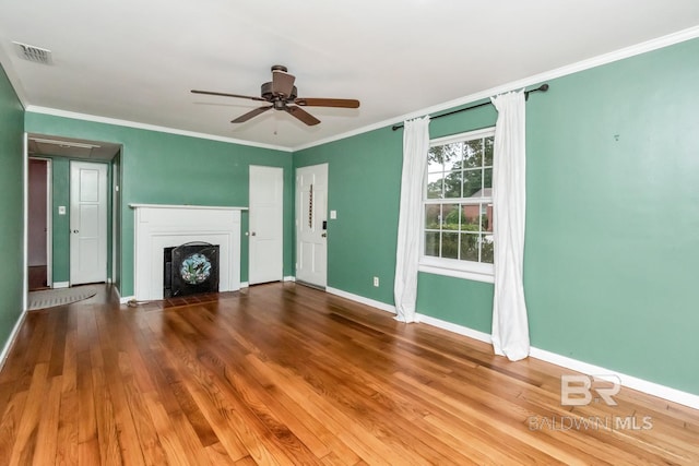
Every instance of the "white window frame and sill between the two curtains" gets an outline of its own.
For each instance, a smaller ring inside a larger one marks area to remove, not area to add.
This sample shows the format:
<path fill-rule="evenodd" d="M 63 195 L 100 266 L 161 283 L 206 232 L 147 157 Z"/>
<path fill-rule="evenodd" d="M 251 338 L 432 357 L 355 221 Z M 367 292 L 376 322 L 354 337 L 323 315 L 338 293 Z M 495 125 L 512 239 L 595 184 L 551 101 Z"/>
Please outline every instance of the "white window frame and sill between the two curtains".
<path fill-rule="evenodd" d="M 479 138 L 487 138 L 495 135 L 495 127 L 484 128 L 475 131 L 467 131 L 460 134 L 453 134 L 450 136 L 434 139 L 429 142 L 429 146 L 445 145 L 454 142 L 469 141 Z M 427 154 L 425 154 L 427 156 Z M 495 158 L 493 164 L 495 165 Z M 435 258 L 433 255 L 425 255 L 425 205 L 428 204 L 427 200 L 427 183 L 428 177 L 425 174 L 425 181 L 423 186 L 423 203 L 422 203 L 422 220 L 420 220 L 420 255 L 419 255 L 419 272 L 446 275 L 455 278 L 464 278 L 475 282 L 494 283 L 495 268 L 493 264 L 462 261 L 458 259 Z M 454 202 L 462 201 L 463 198 L 455 198 Z M 448 199 L 442 199 L 442 203 L 448 202 Z"/>

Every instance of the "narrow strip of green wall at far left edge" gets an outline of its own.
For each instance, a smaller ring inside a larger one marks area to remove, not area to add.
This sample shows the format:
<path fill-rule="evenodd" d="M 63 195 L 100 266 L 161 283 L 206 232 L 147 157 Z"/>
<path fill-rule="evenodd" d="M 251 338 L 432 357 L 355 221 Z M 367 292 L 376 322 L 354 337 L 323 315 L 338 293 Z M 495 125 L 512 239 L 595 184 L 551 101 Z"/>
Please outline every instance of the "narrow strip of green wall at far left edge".
<path fill-rule="evenodd" d="M 0 67 L 0 348 L 22 314 L 24 290 L 24 109 Z"/>

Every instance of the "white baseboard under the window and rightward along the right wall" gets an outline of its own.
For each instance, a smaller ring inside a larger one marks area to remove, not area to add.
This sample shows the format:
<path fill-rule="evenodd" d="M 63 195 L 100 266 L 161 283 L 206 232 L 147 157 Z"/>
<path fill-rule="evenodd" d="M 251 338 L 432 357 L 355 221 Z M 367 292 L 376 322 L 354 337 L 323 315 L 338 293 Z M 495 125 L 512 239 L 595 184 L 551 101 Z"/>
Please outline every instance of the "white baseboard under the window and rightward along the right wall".
<path fill-rule="evenodd" d="M 352 299 L 352 298 L 348 298 L 348 299 Z M 433 325 L 439 328 L 443 328 L 446 331 L 453 332 L 459 335 L 464 335 L 470 338 L 477 339 L 479 342 L 491 343 L 490 335 L 487 333 L 469 328 L 462 325 L 458 325 L 451 322 L 442 321 L 439 319 L 430 318 L 429 315 L 417 314 L 416 316 L 418 318 L 418 322 L 425 323 L 427 325 Z M 545 349 L 540 349 L 535 347 L 530 348 L 530 357 L 540 359 L 542 361 L 550 362 L 553 365 L 560 366 L 562 368 L 570 369 L 576 372 L 582 372 L 588 375 L 615 374 L 621 381 L 621 385 L 628 389 L 638 390 L 639 392 L 642 392 L 649 395 L 657 396 L 660 398 L 667 399 L 670 402 L 689 406 L 690 408 L 694 408 L 694 409 L 699 409 L 699 395 L 695 395 L 692 393 L 682 392 L 679 390 L 661 385 L 655 382 L 649 382 L 643 379 L 619 373 L 611 369 L 590 365 L 584 361 L 579 361 L 577 359 L 568 358 L 566 356 L 561 356 L 556 353 L 547 351 Z"/>

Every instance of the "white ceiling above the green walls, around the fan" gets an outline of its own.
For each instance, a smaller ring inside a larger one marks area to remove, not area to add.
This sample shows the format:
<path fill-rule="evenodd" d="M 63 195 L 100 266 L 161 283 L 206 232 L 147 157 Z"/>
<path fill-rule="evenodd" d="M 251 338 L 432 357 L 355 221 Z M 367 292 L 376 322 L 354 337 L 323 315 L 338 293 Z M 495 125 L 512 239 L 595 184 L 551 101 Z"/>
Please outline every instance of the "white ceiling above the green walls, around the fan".
<path fill-rule="evenodd" d="M 298 148 L 697 25 L 697 0 L 3 0 L 0 60 L 29 109 Z M 277 63 L 362 107 L 232 124 L 259 103 L 189 92 L 258 96 Z"/>

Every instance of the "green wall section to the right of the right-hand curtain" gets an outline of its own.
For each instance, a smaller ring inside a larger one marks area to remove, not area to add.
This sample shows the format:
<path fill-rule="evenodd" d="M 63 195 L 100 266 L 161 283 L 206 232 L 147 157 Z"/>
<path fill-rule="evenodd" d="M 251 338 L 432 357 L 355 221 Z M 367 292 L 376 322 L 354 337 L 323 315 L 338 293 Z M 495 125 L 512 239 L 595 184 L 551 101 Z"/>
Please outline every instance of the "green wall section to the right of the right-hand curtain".
<path fill-rule="evenodd" d="M 695 394 L 697 57 L 695 39 L 536 96 L 524 263 L 533 345 Z"/>

